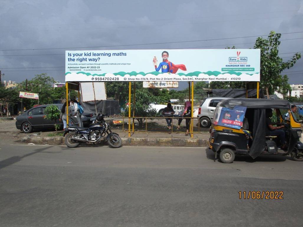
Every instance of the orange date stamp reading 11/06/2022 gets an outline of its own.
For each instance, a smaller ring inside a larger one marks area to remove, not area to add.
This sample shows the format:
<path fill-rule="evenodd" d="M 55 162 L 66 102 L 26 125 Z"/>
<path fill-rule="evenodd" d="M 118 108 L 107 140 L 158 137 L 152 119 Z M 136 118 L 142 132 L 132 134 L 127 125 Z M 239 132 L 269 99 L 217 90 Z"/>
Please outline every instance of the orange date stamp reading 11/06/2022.
<path fill-rule="evenodd" d="M 283 191 L 239 191 L 239 199 L 283 199 Z"/>

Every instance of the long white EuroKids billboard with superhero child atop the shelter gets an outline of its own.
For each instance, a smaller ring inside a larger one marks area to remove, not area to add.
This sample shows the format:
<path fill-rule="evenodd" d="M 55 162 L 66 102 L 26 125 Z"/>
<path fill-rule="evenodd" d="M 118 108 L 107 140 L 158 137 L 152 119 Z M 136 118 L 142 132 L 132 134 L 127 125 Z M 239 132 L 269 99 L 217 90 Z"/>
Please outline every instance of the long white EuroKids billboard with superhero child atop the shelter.
<path fill-rule="evenodd" d="M 65 81 L 260 81 L 260 49 L 65 51 Z"/>

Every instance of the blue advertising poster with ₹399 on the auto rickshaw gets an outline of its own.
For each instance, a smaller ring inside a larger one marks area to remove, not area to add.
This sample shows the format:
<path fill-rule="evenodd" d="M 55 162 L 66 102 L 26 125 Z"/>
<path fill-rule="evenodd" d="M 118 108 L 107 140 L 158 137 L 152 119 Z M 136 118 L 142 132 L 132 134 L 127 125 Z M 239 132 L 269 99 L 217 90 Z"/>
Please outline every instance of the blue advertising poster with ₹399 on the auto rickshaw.
<path fill-rule="evenodd" d="M 215 111 L 213 123 L 229 128 L 240 129 L 243 125 L 246 107 L 233 108 L 218 107 Z"/>

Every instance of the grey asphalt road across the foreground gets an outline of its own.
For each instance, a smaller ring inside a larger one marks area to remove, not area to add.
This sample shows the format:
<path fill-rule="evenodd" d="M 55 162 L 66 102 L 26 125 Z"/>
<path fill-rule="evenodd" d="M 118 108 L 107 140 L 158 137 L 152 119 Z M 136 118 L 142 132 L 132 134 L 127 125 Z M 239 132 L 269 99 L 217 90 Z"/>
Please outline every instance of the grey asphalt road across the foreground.
<path fill-rule="evenodd" d="M 303 225 L 303 163 L 288 157 L 223 164 L 205 148 L 0 144 L 2 227 Z"/>

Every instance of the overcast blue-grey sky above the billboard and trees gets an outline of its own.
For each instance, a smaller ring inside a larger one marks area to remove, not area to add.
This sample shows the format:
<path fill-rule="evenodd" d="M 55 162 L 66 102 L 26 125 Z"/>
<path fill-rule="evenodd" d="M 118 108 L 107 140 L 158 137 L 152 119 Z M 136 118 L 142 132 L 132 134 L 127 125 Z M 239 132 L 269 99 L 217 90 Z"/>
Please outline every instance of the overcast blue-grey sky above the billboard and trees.
<path fill-rule="evenodd" d="M 285 61 L 303 53 L 303 0 L 0 2 L 0 70 L 6 81 L 47 73 L 64 82 L 65 50 L 252 48 L 257 36 L 271 30 L 282 33 L 279 53 Z M 255 37 L 237 38 L 247 36 Z M 190 42 L 216 38 L 226 39 Z M 285 71 L 290 84 L 303 84 L 302 63 Z"/>

